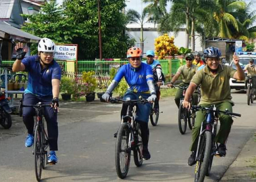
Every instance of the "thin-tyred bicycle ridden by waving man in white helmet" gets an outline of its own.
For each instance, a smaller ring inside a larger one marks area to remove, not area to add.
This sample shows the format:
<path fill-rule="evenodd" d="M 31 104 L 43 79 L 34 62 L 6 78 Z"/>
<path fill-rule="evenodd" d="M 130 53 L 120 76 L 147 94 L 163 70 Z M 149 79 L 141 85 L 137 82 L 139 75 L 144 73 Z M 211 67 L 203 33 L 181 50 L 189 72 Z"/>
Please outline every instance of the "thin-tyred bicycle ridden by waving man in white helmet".
<path fill-rule="evenodd" d="M 22 102 L 21 102 L 22 104 Z M 48 165 L 48 155 L 47 148 L 49 146 L 48 143 L 48 135 L 45 130 L 45 122 L 42 117 L 43 108 L 50 107 L 51 104 L 42 104 L 38 102 L 35 105 L 21 105 L 21 107 L 34 107 L 36 123 L 34 126 L 34 147 L 33 147 L 33 155 L 35 156 L 35 177 L 37 181 L 40 181 L 42 169 L 45 169 L 45 165 Z"/>

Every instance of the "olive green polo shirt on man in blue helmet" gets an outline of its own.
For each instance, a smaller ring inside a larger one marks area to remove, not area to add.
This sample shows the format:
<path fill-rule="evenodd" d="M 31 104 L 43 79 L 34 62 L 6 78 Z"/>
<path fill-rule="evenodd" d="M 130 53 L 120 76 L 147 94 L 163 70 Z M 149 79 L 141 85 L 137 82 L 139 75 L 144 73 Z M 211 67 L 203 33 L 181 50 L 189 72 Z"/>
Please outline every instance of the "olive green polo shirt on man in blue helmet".
<path fill-rule="evenodd" d="M 191 83 L 201 84 L 202 99 L 199 104 L 217 104 L 231 102 L 229 78 L 233 78 L 236 70 L 230 66 L 219 65 L 215 77 L 211 75 L 209 67 L 199 70 L 193 76 Z"/>

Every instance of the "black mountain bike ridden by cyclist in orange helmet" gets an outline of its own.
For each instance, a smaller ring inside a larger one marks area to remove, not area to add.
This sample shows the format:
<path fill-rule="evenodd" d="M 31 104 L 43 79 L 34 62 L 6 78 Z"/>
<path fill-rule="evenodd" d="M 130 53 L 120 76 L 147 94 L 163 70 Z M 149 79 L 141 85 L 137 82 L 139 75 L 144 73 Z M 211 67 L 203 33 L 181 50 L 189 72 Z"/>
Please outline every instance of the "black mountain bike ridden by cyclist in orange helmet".
<path fill-rule="evenodd" d="M 114 101 L 125 103 L 127 114 L 121 120 L 121 126 L 118 129 L 116 139 L 115 163 L 116 172 L 119 178 L 124 179 L 127 176 L 131 161 L 131 151 L 136 166 L 140 167 L 143 163 L 142 157 L 142 137 L 140 124 L 136 122 L 136 105 L 138 103 L 146 104 L 146 99 L 140 100 L 122 100 L 112 98 Z"/>

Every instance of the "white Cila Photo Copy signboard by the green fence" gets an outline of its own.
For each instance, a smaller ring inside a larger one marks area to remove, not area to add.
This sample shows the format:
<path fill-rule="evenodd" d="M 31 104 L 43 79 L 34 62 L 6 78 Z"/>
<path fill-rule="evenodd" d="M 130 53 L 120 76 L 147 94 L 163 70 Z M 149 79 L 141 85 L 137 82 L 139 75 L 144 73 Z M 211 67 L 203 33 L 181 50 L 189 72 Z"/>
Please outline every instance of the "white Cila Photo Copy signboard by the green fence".
<path fill-rule="evenodd" d="M 76 60 L 77 46 L 56 45 L 54 59 Z"/>

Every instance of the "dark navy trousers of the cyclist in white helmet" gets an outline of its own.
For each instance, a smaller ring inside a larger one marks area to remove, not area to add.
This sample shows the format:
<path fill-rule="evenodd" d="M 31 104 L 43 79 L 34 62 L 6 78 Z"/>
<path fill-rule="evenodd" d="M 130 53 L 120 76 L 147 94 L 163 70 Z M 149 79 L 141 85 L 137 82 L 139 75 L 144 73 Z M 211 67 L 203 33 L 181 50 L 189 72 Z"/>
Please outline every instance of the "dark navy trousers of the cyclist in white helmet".
<path fill-rule="evenodd" d="M 50 104 L 52 102 L 52 96 L 39 97 L 33 94 L 25 94 L 23 98 L 24 105 L 37 104 Z M 35 109 L 33 107 L 23 107 L 23 122 L 27 127 L 27 132 L 33 134 L 34 132 L 34 115 Z M 48 130 L 48 142 L 50 150 L 58 150 L 58 123 L 57 112 L 54 113 L 52 107 L 44 108 L 44 118 L 47 123 Z"/>

